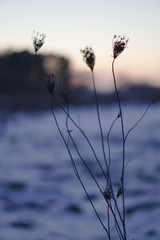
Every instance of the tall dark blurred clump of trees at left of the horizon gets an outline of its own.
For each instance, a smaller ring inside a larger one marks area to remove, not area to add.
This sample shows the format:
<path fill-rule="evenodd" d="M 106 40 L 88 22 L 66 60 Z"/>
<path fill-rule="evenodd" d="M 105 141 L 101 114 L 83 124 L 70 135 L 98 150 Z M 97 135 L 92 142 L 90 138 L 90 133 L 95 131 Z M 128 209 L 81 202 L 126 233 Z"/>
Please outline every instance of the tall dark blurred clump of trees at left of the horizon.
<path fill-rule="evenodd" d="M 49 93 L 41 79 L 51 74 L 56 76 L 56 92 L 71 91 L 69 60 L 63 56 L 28 51 L 0 55 L 0 109 L 49 107 Z"/>

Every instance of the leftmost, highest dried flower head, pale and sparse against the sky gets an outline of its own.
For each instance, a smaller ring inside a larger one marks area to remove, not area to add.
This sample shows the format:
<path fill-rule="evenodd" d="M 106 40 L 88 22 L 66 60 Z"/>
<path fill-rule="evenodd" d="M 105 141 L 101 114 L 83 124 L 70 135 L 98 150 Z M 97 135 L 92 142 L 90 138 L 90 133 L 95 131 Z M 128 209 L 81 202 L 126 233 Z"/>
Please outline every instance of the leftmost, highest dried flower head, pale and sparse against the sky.
<path fill-rule="evenodd" d="M 33 31 L 32 41 L 33 41 L 35 52 L 37 52 L 43 46 L 45 38 L 46 38 L 46 35 L 44 33 Z"/>

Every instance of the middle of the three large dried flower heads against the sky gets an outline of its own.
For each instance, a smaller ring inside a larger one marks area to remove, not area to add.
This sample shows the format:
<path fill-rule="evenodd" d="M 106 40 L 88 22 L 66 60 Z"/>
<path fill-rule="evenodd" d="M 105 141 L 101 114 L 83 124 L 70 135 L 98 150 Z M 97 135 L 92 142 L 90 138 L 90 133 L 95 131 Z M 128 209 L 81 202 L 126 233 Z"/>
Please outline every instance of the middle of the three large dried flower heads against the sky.
<path fill-rule="evenodd" d="M 95 54 L 93 49 L 90 47 L 86 47 L 85 49 L 80 50 L 83 56 L 83 60 L 88 65 L 88 67 L 93 70 L 95 65 Z"/>

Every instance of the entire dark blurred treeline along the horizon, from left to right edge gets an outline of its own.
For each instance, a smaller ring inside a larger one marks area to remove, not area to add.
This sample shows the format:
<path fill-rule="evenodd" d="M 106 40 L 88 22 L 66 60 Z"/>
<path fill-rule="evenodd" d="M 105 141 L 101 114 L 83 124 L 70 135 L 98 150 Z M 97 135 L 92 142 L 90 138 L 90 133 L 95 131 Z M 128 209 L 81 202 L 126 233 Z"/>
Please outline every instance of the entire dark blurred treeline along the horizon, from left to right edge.
<path fill-rule="evenodd" d="M 55 94 L 62 104 L 64 94 L 68 96 L 70 104 L 95 102 L 91 89 L 73 83 L 78 82 L 78 76 L 73 81 L 70 62 L 65 57 L 54 54 L 34 55 L 28 51 L 7 52 L 0 55 L 0 110 L 50 108 L 50 94 L 41 79 L 45 81 L 51 74 L 55 75 Z M 160 98 L 160 89 L 129 85 L 119 89 L 119 94 L 124 102 L 152 102 Z M 98 99 L 105 103 L 116 101 L 114 91 L 98 93 Z"/>

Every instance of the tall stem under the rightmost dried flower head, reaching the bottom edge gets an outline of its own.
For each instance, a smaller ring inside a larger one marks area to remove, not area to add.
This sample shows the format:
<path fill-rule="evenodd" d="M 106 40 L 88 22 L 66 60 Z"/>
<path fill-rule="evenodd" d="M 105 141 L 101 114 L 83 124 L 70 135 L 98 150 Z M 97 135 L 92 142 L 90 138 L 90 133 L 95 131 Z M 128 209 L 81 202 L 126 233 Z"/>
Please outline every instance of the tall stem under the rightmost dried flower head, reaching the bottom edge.
<path fill-rule="evenodd" d="M 115 93 L 116 93 L 116 98 L 117 98 L 118 107 L 119 107 L 119 116 L 120 116 L 121 129 L 122 129 L 122 175 L 121 175 L 121 184 L 122 184 L 122 189 L 124 189 L 125 133 L 124 133 L 124 123 L 123 123 L 122 107 L 121 107 L 121 102 L 120 102 L 120 98 L 119 98 L 119 94 L 118 94 L 118 88 L 117 88 L 116 77 L 115 77 L 115 72 L 114 72 L 114 63 L 115 63 L 115 58 L 112 61 L 112 74 L 113 74 L 113 81 L 114 81 Z M 124 191 L 122 192 L 122 203 L 123 203 L 123 232 L 124 232 L 124 239 L 126 240 L 125 194 L 124 194 Z"/>

